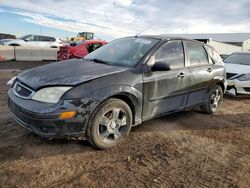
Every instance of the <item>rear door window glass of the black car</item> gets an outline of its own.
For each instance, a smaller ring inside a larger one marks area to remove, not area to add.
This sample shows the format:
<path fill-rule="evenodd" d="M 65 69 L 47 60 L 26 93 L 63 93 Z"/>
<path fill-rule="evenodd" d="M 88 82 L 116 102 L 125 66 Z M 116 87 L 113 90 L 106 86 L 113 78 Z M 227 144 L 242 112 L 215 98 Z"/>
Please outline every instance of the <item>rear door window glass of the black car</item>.
<path fill-rule="evenodd" d="M 208 55 L 201 44 L 187 42 L 189 63 L 191 66 L 208 64 Z"/>

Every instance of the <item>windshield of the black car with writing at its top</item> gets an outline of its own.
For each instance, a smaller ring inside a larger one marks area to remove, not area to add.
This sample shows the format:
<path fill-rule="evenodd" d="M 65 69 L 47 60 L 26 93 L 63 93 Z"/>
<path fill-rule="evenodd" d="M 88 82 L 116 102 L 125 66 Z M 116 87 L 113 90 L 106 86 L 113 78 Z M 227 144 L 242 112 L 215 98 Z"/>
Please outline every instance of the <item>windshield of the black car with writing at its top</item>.
<path fill-rule="evenodd" d="M 158 42 L 158 39 L 151 38 L 127 37 L 116 39 L 85 56 L 84 60 L 132 68 Z"/>

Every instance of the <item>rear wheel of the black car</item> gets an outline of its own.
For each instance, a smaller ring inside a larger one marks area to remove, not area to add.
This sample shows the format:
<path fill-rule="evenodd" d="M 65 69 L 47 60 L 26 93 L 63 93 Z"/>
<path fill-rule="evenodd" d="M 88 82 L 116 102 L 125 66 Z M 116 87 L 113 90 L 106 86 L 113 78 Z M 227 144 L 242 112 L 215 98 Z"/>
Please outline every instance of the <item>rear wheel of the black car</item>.
<path fill-rule="evenodd" d="M 221 101 L 223 99 L 223 91 L 219 85 L 216 85 L 208 94 L 207 104 L 202 105 L 200 108 L 207 114 L 213 114 L 217 112 Z"/>

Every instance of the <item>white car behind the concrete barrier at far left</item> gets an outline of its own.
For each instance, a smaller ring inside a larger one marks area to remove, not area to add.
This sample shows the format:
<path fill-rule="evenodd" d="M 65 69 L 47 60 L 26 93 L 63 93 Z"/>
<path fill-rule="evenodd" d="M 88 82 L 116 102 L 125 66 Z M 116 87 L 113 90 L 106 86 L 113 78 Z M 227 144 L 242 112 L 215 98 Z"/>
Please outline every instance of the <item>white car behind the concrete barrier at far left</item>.
<path fill-rule="evenodd" d="M 64 43 L 61 39 L 55 37 L 42 35 L 24 35 L 18 39 L 4 42 L 3 44 L 6 46 L 58 48 Z"/>

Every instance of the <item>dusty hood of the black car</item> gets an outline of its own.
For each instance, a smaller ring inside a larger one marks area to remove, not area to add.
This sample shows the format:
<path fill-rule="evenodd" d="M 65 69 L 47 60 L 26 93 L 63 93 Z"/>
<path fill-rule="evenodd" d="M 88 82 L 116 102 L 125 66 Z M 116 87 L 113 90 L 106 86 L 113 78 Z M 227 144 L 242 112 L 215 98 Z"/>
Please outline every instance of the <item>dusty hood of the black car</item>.
<path fill-rule="evenodd" d="M 37 90 L 45 86 L 75 86 L 127 69 L 82 59 L 70 59 L 24 71 L 17 76 L 17 79 Z"/>

